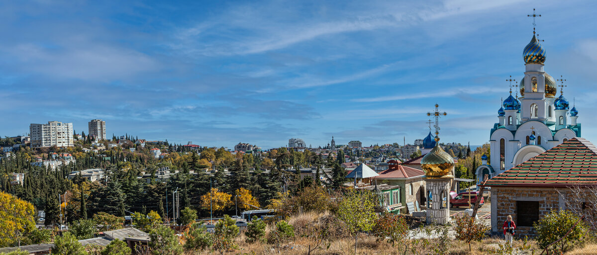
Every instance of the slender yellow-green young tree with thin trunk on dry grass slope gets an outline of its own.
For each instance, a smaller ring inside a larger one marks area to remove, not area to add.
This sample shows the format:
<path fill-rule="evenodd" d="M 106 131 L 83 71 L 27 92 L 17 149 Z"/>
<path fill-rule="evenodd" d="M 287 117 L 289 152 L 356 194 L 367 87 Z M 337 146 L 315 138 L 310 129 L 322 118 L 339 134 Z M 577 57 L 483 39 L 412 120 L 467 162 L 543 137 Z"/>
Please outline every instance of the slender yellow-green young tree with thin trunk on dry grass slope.
<path fill-rule="evenodd" d="M 369 232 L 375 226 L 377 195 L 371 191 L 350 190 L 338 205 L 338 216 L 355 235 L 355 254 L 359 231 Z"/>

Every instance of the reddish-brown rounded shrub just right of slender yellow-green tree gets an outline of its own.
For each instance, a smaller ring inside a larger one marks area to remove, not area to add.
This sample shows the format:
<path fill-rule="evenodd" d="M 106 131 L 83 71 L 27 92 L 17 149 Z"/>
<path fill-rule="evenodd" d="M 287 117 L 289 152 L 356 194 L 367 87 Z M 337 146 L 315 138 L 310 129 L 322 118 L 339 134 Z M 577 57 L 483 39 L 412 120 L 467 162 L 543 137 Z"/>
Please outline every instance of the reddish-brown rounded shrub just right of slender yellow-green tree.
<path fill-rule="evenodd" d="M 402 240 L 408 232 L 408 224 L 404 217 L 396 214 L 386 213 L 376 220 L 372 234 L 377 241 L 385 240 L 394 246 L 394 242 Z"/>

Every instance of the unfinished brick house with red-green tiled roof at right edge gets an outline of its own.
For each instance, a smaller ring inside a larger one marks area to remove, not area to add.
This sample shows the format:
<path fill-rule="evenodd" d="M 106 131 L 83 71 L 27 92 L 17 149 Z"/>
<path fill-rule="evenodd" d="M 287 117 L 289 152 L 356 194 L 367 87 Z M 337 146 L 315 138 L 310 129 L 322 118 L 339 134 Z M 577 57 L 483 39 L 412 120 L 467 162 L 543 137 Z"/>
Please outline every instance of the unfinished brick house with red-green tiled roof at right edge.
<path fill-rule="evenodd" d="M 562 142 L 481 184 L 491 188 L 492 231 L 503 231 L 512 215 L 518 235 L 535 234 L 533 223 L 551 210 L 588 203 L 568 204 L 571 188 L 596 185 L 597 148 L 584 138 Z"/>

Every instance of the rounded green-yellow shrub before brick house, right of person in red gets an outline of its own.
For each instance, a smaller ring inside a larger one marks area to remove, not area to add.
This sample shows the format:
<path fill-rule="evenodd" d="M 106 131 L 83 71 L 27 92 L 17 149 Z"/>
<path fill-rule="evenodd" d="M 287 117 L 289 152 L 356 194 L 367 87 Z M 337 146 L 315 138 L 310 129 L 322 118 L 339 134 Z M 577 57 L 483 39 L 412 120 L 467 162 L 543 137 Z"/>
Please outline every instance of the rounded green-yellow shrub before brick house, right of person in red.
<path fill-rule="evenodd" d="M 570 250 L 576 242 L 582 242 L 586 233 L 587 225 L 583 221 L 578 221 L 580 217 L 568 210 L 552 210 L 545 217 L 533 223 L 537 232 L 537 245 L 541 248 L 547 248 L 550 251 L 565 253 Z M 575 223 L 578 224 L 574 226 Z M 574 228 L 573 228 L 574 226 Z M 570 234 L 564 235 L 570 230 Z M 549 246 L 552 242 L 561 241 Z"/>

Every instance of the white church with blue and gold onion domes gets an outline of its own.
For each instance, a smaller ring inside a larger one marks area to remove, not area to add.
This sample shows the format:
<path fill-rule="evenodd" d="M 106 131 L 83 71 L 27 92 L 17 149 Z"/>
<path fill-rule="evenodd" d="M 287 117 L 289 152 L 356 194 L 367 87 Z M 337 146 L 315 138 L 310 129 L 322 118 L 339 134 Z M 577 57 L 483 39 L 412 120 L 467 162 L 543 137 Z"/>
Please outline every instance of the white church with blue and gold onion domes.
<path fill-rule="evenodd" d="M 560 95 L 558 84 L 544 71 L 545 49 L 533 29 L 533 38 L 522 51 L 525 62 L 524 77 L 520 80 L 520 94 L 510 95 L 497 111 L 498 123 L 490 132 L 491 155 L 482 157 L 476 169 L 477 184 L 484 175 L 493 178 L 504 171 L 524 163 L 532 157 L 556 147 L 574 137 L 580 137 L 576 107 L 564 97 L 564 79 Z M 509 79 L 513 82 L 515 80 Z M 490 163 L 487 163 L 487 160 Z"/>

